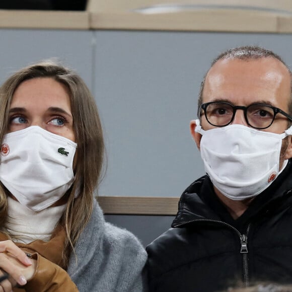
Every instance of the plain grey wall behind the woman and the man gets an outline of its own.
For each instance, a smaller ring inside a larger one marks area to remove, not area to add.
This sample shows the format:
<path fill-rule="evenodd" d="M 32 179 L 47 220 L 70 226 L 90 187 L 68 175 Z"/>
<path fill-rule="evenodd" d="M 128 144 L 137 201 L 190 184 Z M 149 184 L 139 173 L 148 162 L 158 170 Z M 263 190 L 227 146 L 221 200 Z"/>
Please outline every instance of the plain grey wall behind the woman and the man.
<path fill-rule="evenodd" d="M 211 60 L 257 44 L 292 64 L 290 34 L 0 29 L 0 82 L 28 63 L 55 57 L 92 90 L 108 168 L 99 195 L 179 196 L 204 174 L 189 121 Z"/>

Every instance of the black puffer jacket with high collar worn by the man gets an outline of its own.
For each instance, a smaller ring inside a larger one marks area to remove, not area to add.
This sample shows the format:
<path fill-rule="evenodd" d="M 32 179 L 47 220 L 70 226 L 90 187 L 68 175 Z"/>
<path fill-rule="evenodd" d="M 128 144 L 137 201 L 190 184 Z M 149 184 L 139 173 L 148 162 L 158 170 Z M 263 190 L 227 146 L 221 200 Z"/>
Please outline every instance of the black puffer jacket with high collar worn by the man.
<path fill-rule="evenodd" d="M 150 291 L 226 291 L 239 281 L 292 283 L 292 163 L 237 220 L 207 176 L 182 194 L 169 229 L 147 247 Z"/>

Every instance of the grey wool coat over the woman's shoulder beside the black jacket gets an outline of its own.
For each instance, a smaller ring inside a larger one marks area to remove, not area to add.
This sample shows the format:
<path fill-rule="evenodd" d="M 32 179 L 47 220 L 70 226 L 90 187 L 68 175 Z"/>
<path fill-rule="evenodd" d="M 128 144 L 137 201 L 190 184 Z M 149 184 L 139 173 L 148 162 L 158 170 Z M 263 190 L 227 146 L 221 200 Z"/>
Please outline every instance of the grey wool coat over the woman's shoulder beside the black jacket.
<path fill-rule="evenodd" d="M 144 248 L 130 232 L 106 223 L 97 202 L 75 249 L 67 272 L 81 292 L 147 291 Z"/>

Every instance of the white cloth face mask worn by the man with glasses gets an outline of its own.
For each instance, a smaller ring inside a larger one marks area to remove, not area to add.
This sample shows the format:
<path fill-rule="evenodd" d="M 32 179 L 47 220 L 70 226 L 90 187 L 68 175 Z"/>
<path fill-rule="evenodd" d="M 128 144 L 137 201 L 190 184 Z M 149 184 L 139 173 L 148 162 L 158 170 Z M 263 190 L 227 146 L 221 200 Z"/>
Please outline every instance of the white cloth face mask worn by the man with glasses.
<path fill-rule="evenodd" d="M 256 196 L 279 175 L 282 139 L 292 134 L 292 126 L 275 134 L 239 124 L 205 131 L 199 120 L 196 124 L 195 131 L 202 134 L 205 171 L 225 196 L 233 200 Z"/>

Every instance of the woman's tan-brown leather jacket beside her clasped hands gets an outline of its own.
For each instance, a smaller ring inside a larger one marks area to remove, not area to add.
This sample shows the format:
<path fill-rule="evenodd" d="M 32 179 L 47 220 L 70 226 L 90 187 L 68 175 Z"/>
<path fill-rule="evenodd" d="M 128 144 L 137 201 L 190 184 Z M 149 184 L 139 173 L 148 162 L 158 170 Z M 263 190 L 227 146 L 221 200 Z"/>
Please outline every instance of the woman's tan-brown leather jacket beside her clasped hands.
<path fill-rule="evenodd" d="M 37 269 L 33 277 L 21 288 L 15 287 L 14 292 L 75 292 L 79 291 L 71 280 L 62 261 L 62 249 L 65 231 L 58 228 L 50 241 L 35 240 L 29 244 L 16 243 L 18 247 L 37 260 Z M 8 240 L 7 235 L 0 233 L 0 241 Z"/>

